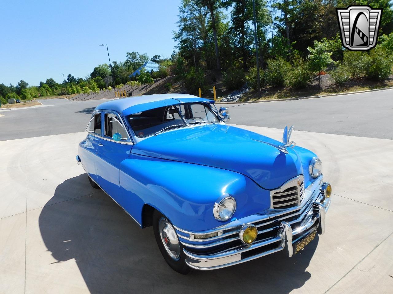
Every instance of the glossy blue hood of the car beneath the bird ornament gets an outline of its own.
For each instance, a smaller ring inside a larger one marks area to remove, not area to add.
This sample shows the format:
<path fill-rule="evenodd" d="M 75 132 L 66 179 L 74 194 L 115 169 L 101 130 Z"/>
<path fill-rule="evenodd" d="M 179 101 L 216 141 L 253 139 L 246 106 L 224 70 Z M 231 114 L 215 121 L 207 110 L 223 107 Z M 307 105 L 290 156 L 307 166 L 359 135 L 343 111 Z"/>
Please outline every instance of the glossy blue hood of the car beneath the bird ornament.
<path fill-rule="evenodd" d="M 286 149 L 285 154 L 268 143 L 280 144 L 230 125 L 206 124 L 151 136 L 134 145 L 131 152 L 239 172 L 272 190 L 303 174 L 303 169 L 294 149 Z"/>

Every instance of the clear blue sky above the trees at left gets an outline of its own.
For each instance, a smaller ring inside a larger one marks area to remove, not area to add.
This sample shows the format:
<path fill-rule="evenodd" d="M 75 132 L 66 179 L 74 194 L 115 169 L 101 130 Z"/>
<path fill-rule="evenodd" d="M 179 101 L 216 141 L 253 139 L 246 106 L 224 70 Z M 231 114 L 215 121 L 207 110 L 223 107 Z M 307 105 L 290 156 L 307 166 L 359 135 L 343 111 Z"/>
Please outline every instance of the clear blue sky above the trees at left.
<path fill-rule="evenodd" d="M 84 78 L 137 51 L 170 57 L 180 0 L 1 0 L 0 83 Z"/>

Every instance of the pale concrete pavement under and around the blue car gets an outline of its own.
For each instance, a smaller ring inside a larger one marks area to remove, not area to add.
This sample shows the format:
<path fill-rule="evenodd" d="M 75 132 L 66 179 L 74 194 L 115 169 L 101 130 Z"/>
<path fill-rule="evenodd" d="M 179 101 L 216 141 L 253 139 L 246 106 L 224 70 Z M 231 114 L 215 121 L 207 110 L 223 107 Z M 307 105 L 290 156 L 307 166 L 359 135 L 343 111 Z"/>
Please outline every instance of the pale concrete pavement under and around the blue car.
<path fill-rule="evenodd" d="M 392 140 L 294 131 L 333 185 L 326 233 L 290 259 L 278 252 L 182 276 L 166 265 L 152 228 L 139 229 L 90 187 L 75 163 L 84 136 L 0 142 L 0 293 L 391 293 Z"/>

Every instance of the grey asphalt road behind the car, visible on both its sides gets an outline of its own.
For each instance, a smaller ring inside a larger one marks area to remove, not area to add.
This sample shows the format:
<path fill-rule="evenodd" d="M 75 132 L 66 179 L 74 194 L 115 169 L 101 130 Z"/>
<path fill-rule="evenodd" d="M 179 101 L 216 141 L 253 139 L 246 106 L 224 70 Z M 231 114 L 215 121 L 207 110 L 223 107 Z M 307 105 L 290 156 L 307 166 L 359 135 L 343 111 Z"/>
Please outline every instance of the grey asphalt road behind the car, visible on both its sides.
<path fill-rule="evenodd" d="M 41 100 L 48 107 L 2 111 L 0 141 L 84 131 L 107 100 Z M 225 104 L 219 104 L 224 106 Z M 230 123 L 393 140 L 393 90 L 303 100 L 230 104 Z"/>

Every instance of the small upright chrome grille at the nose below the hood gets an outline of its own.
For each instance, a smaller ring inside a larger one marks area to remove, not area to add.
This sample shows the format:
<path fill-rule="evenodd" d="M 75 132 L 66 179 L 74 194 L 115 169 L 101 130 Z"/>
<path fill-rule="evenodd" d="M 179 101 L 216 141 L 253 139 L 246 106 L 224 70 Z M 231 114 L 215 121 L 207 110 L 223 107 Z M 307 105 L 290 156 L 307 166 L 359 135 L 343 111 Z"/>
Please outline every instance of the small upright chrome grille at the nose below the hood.
<path fill-rule="evenodd" d="M 271 208 L 287 209 L 298 206 L 304 197 L 304 179 L 303 176 L 297 176 L 279 189 L 271 191 Z"/>

